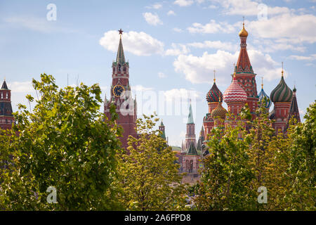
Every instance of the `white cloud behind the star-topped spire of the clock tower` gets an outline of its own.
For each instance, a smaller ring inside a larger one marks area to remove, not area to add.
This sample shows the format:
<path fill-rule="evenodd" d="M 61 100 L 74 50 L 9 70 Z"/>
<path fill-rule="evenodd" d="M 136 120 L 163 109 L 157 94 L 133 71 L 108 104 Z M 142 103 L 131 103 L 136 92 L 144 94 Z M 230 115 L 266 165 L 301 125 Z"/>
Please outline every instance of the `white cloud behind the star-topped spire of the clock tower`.
<path fill-rule="evenodd" d="M 136 56 L 151 56 L 152 54 L 164 53 L 164 43 L 154 39 L 145 32 L 124 32 L 122 39 L 124 51 L 133 53 Z M 99 43 L 105 49 L 115 52 L 119 44 L 119 34 L 117 34 L 116 30 L 105 32 Z"/>

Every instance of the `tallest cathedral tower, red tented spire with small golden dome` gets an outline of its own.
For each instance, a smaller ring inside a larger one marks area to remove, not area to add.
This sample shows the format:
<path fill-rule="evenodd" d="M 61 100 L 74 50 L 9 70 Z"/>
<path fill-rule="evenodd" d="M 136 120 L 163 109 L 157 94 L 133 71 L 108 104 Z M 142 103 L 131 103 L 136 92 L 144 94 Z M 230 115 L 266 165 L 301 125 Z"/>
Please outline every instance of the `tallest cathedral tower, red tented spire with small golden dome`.
<path fill-rule="evenodd" d="M 255 117 L 256 108 L 258 107 L 258 95 L 257 95 L 257 84 L 256 74 L 252 69 L 249 56 L 246 49 L 246 39 L 248 32 L 244 29 L 244 23 L 242 24 L 242 30 L 239 32 L 240 37 L 240 52 L 235 66 L 235 73 L 237 82 L 244 91 L 246 91 L 247 99 L 246 103 L 250 108 L 252 117 Z"/>

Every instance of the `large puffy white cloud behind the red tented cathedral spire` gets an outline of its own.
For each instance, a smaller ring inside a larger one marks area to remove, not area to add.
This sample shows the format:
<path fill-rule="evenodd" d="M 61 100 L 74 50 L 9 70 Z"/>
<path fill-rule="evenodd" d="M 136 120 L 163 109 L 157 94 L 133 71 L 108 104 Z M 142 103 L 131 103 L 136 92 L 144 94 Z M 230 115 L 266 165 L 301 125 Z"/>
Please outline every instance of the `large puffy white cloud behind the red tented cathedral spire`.
<path fill-rule="evenodd" d="M 270 55 L 261 51 L 249 50 L 249 59 L 258 76 L 263 76 L 267 80 L 279 79 L 281 68 L 279 63 L 272 60 Z M 239 51 L 230 53 L 218 50 L 216 53 L 209 54 L 204 52 L 202 56 L 179 55 L 173 62 L 176 72 L 185 75 L 185 79 L 193 84 L 213 83 L 213 70 L 216 69 L 216 80 L 219 85 L 227 86 L 230 75 L 233 72 L 233 63 L 237 62 Z"/>

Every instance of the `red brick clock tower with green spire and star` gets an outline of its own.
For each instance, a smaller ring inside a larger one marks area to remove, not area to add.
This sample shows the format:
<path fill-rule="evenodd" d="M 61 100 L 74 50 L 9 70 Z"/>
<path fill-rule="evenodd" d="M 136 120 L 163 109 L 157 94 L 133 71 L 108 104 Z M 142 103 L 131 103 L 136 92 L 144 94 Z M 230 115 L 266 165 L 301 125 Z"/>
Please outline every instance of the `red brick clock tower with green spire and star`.
<path fill-rule="evenodd" d="M 124 56 L 121 35 L 123 30 L 119 30 L 119 49 L 117 50 L 117 60 L 112 63 L 112 86 L 110 100 L 105 97 L 104 113 L 110 117 L 110 104 L 117 106 L 119 118 L 117 124 L 124 129 L 121 143 L 123 148 L 127 148 L 127 139 L 129 135 L 136 137 L 136 119 L 137 105 L 136 98 L 131 96 L 131 86 L 129 85 L 129 62 L 126 62 Z"/>

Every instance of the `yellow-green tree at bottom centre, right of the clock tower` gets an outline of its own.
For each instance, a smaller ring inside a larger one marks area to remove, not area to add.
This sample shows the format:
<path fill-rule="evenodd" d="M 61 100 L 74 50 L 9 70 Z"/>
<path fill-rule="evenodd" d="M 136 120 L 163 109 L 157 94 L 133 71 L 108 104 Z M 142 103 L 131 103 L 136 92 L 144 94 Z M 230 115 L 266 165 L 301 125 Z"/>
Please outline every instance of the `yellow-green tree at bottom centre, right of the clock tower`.
<path fill-rule="evenodd" d="M 136 121 L 138 136 L 129 136 L 128 150 L 119 159 L 120 199 L 126 210 L 183 210 L 185 187 L 176 156 L 154 129 L 159 119 L 143 117 Z"/>

